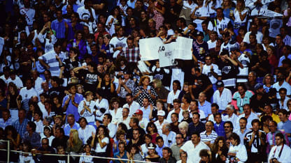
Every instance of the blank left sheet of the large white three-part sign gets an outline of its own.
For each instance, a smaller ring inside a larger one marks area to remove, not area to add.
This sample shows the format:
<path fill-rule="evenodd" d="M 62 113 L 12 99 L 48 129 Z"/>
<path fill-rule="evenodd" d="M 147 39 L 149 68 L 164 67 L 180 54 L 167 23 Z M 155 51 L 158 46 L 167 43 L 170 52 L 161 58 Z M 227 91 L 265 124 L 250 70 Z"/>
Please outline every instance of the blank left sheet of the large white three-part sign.
<path fill-rule="evenodd" d="M 141 61 L 150 61 L 159 59 L 158 49 L 164 45 L 159 38 L 145 38 L 139 40 L 139 50 L 141 53 Z"/>

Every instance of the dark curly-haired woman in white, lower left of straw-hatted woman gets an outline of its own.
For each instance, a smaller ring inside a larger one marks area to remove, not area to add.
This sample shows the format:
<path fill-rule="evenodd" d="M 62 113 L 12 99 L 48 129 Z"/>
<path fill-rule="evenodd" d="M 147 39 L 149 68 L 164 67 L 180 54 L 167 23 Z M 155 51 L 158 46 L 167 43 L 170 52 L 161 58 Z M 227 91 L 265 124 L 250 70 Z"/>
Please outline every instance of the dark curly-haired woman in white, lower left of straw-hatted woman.
<path fill-rule="evenodd" d="M 120 101 L 118 98 L 112 98 L 110 102 L 110 107 L 109 107 L 109 113 L 112 116 L 112 121 L 111 123 L 117 124 L 118 119 L 122 118 L 122 108 L 119 107 Z"/>

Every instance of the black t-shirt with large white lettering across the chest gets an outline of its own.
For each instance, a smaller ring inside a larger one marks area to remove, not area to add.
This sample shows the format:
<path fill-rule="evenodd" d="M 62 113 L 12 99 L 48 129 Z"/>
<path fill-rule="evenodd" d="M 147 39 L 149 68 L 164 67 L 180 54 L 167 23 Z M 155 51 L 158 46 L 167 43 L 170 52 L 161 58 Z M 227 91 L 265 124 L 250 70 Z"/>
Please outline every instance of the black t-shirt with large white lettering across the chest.
<path fill-rule="evenodd" d="M 97 88 L 98 77 L 102 77 L 99 72 L 90 72 L 88 70 L 79 70 L 78 77 L 84 86 L 85 91 L 92 91 Z"/>

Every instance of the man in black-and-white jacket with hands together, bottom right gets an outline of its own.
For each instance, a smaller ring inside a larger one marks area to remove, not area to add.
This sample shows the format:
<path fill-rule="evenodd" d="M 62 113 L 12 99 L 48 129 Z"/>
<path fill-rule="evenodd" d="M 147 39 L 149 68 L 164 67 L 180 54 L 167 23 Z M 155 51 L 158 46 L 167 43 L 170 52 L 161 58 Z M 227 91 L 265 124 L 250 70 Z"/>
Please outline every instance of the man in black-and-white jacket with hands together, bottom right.
<path fill-rule="evenodd" d="M 245 143 L 246 148 L 250 151 L 248 160 L 250 162 L 262 162 L 264 161 L 264 155 L 266 145 L 266 134 L 259 130 L 260 129 L 260 121 L 258 119 L 254 119 L 252 121 L 252 130 L 246 133 Z"/>

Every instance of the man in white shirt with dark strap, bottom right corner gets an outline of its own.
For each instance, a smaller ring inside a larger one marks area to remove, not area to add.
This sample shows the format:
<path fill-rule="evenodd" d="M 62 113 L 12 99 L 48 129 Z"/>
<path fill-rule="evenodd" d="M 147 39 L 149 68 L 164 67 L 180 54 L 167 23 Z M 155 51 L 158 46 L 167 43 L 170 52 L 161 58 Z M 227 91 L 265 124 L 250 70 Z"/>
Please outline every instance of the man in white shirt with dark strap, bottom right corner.
<path fill-rule="evenodd" d="M 277 133 L 275 140 L 277 145 L 271 148 L 268 162 L 290 162 L 291 149 L 289 146 L 285 145 L 283 134 L 280 132 Z"/>

